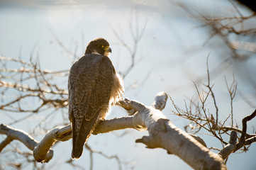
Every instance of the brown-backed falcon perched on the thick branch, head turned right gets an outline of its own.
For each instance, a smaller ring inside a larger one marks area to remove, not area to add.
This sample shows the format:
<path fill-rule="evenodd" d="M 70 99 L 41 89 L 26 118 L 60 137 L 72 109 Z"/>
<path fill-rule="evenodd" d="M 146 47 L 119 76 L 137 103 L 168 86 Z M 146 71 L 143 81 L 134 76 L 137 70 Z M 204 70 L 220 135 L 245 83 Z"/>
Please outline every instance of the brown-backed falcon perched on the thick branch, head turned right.
<path fill-rule="evenodd" d="M 81 157 L 84 143 L 99 120 L 104 120 L 111 105 L 122 98 L 124 89 L 121 77 L 108 57 L 110 53 L 111 48 L 104 38 L 91 40 L 84 56 L 69 71 L 72 159 Z"/>

